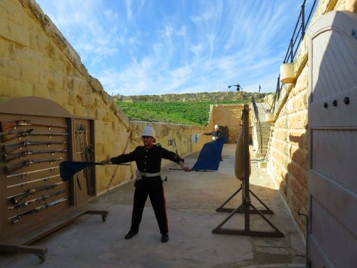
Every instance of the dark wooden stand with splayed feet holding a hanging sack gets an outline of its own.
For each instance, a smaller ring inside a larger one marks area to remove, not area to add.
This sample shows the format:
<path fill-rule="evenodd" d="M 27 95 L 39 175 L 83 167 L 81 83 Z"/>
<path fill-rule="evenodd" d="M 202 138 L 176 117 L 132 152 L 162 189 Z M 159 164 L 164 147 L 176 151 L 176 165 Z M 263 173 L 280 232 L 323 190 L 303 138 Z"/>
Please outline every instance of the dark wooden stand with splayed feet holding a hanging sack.
<path fill-rule="evenodd" d="M 230 212 L 229 216 L 225 218 L 216 228 L 212 230 L 213 234 L 234 234 L 234 235 L 250 235 L 250 236 L 259 236 L 259 237 L 284 237 L 284 234 L 278 230 L 278 228 L 271 223 L 271 221 L 264 216 L 264 214 L 273 214 L 273 211 L 269 209 L 264 202 L 262 202 L 255 193 L 253 193 L 249 188 L 249 105 L 245 104 L 242 112 L 242 122 L 243 122 L 243 161 L 244 161 L 244 179 L 242 181 L 241 187 L 238 188 L 216 211 L 221 212 Z M 237 159 L 236 159 L 237 161 Z M 229 202 L 234 195 L 239 191 L 242 191 L 242 203 L 236 207 L 236 209 L 225 208 L 225 204 Z M 250 199 L 250 193 L 257 198 L 257 200 L 264 205 L 265 209 L 257 209 L 255 205 L 252 204 Z M 231 217 L 236 213 L 244 214 L 244 229 L 235 229 L 235 228 L 222 228 L 222 225 L 227 223 Z M 260 231 L 260 230 L 251 230 L 250 228 L 250 214 L 258 214 L 261 218 L 268 223 L 268 225 L 273 228 L 273 231 Z"/>

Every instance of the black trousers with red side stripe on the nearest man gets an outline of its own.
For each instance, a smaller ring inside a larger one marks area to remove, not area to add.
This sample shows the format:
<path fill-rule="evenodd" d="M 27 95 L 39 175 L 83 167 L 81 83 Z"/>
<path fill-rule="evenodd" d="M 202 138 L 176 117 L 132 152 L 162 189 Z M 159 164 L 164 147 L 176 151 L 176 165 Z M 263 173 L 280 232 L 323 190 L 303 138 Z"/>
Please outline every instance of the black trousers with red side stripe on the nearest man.
<path fill-rule="evenodd" d="M 144 177 L 139 181 L 135 181 L 134 205 L 132 206 L 131 232 L 138 232 L 139 225 L 142 221 L 142 213 L 144 211 L 145 202 L 148 198 L 153 205 L 156 220 L 160 228 L 161 234 L 169 232 L 167 225 L 166 203 L 164 188 L 160 177 Z"/>

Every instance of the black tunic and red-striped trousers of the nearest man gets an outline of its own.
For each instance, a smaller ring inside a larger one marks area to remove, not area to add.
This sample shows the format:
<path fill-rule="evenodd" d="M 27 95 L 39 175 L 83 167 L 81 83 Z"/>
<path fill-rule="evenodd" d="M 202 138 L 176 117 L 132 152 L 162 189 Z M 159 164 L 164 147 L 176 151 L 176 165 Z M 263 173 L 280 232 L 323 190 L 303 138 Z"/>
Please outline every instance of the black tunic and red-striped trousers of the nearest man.
<path fill-rule="evenodd" d="M 161 170 L 161 159 L 165 158 L 173 162 L 179 163 L 183 158 L 172 151 L 162 148 L 160 144 L 155 144 L 150 149 L 145 149 L 144 146 L 138 146 L 129 154 L 122 154 L 111 158 L 112 163 L 121 164 L 135 161 L 137 169 L 144 173 L 157 173 Z M 130 232 L 137 233 L 139 225 L 142 221 L 142 213 L 144 211 L 145 202 L 148 198 L 151 200 L 156 220 L 160 228 L 160 233 L 169 232 L 167 225 L 167 214 L 165 204 L 164 188 L 160 176 L 142 177 L 135 181 L 134 205 L 132 207 L 132 219 Z"/>

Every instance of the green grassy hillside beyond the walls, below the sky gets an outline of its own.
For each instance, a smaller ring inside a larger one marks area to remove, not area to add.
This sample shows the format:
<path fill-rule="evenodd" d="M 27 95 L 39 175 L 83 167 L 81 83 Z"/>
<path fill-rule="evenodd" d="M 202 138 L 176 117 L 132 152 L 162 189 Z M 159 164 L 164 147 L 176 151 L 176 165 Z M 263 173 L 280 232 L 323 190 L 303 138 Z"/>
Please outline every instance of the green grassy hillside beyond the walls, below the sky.
<path fill-rule="evenodd" d="M 259 100 L 257 100 L 259 101 Z M 220 101 L 219 104 L 247 103 L 250 100 Z M 128 103 L 116 101 L 130 120 L 206 126 L 211 101 Z"/>

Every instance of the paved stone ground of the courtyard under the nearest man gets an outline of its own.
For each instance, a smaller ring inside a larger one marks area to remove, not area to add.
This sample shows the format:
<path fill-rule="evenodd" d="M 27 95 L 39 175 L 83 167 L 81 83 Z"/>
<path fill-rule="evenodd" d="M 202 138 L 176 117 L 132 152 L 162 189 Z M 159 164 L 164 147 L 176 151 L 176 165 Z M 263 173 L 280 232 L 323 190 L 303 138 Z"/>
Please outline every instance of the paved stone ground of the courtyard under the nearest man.
<path fill-rule="evenodd" d="M 218 172 L 183 172 L 174 163 L 162 168 L 165 182 L 169 241 L 160 243 L 158 225 L 146 202 L 139 234 L 130 240 L 124 235 L 130 228 L 133 181 L 101 195 L 93 206 L 109 210 L 106 222 L 100 216 L 86 215 L 74 223 L 37 241 L 48 248 L 46 261 L 28 254 L 0 253 L 0 267 L 305 267 L 303 239 L 296 231 L 289 211 L 266 170 L 252 161 L 252 191 L 271 207 L 272 221 L 285 237 L 248 237 L 212 234 L 227 213 L 215 212 L 236 191 L 240 182 L 234 177 L 235 144 L 225 144 Z M 198 153 L 185 157 L 192 166 Z M 226 207 L 238 207 L 241 195 Z M 262 207 L 252 198 L 253 204 Z M 241 214 L 234 215 L 223 227 L 243 228 Z M 259 216 L 251 218 L 252 230 L 272 230 Z"/>

